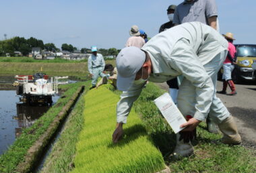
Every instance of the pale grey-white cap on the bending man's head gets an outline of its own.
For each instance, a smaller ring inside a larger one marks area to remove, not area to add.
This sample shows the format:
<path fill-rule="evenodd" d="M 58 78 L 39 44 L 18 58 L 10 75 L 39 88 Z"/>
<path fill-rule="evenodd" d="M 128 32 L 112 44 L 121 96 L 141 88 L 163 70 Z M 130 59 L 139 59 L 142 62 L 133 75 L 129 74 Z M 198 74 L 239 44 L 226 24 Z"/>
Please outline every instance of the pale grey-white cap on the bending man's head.
<path fill-rule="evenodd" d="M 116 60 L 117 64 L 117 89 L 128 91 L 135 79 L 136 73 L 141 69 L 146 60 L 146 54 L 137 47 L 123 48 Z"/>

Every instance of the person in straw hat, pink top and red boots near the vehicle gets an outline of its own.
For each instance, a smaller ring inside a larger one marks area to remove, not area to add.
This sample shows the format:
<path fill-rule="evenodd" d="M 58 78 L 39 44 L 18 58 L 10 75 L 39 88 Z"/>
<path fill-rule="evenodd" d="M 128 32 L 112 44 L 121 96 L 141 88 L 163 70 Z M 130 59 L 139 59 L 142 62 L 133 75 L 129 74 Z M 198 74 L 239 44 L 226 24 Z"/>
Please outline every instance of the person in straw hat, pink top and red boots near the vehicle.
<path fill-rule="evenodd" d="M 223 88 L 222 91 L 217 91 L 217 93 L 224 94 L 224 95 L 236 95 L 236 87 L 234 86 L 234 82 L 231 78 L 232 70 L 234 70 L 234 64 L 236 64 L 236 48 L 234 47 L 233 41 L 233 34 L 228 32 L 223 34 L 223 36 L 228 41 L 228 55 L 226 56 L 226 60 L 223 62 Z M 226 93 L 226 88 L 230 87 L 231 93 Z"/>

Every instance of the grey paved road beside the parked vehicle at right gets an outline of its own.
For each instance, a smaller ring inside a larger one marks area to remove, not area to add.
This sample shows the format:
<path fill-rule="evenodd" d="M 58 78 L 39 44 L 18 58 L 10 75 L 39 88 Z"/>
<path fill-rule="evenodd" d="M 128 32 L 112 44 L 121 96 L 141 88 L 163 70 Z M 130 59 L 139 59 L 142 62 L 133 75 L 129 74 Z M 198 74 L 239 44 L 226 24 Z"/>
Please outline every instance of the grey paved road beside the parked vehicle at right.
<path fill-rule="evenodd" d="M 159 85 L 162 89 L 168 89 L 166 83 Z M 220 90 L 222 90 L 222 82 L 218 81 L 217 91 Z M 238 92 L 236 96 L 220 94 L 217 96 L 232 113 L 241 133 L 243 146 L 256 149 L 256 82 L 236 84 L 236 90 Z"/>

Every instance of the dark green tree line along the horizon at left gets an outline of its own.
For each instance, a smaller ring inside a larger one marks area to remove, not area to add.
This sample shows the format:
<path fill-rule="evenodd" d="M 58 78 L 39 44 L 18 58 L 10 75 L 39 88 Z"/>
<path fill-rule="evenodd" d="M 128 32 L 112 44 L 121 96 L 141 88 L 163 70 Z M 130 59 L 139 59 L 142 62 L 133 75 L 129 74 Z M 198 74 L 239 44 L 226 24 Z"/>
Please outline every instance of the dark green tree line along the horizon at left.
<path fill-rule="evenodd" d="M 7 53 L 11 56 L 15 55 L 15 52 L 21 52 L 23 56 L 28 56 L 30 52 L 32 52 L 32 48 L 41 48 L 41 50 L 51 51 L 51 52 L 59 52 L 60 49 L 55 46 L 53 43 L 46 43 L 42 40 L 38 40 L 36 38 L 22 38 L 22 37 L 14 37 L 6 40 L 0 40 L 0 56 L 5 56 Z M 77 48 L 71 44 L 62 44 L 61 50 L 74 52 Z M 98 52 L 103 56 L 117 56 L 120 50 L 116 48 L 109 49 L 98 49 Z M 82 48 L 80 50 L 81 53 L 91 53 L 89 48 Z"/>

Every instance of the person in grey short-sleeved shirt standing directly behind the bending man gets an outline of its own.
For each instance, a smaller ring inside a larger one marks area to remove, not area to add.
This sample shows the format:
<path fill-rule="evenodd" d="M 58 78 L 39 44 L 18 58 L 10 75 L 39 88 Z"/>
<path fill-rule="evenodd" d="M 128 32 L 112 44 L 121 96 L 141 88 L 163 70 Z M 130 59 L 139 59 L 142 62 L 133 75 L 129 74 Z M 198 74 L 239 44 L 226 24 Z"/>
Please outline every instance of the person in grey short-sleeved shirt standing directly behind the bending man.
<path fill-rule="evenodd" d="M 215 0 L 185 0 L 175 9 L 172 23 L 179 25 L 185 22 L 200 21 L 219 32 L 217 17 L 218 10 Z M 209 132 L 218 133 L 218 125 L 212 121 L 210 116 L 207 117 L 206 123 Z"/>

